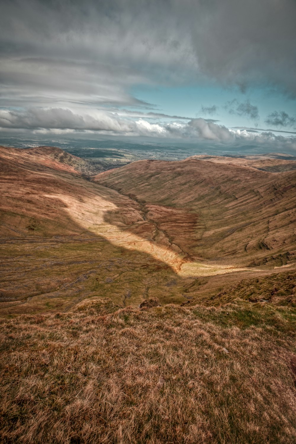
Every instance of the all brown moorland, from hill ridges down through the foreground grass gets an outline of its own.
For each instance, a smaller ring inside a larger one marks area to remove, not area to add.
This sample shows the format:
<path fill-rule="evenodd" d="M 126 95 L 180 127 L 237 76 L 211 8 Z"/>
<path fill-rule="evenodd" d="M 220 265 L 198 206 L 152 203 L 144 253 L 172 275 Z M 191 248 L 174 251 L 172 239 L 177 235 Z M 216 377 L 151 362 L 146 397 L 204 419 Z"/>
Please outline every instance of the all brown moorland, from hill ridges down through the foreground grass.
<path fill-rule="evenodd" d="M 296 172 L 84 167 L 0 150 L 0 441 L 295 443 Z"/>

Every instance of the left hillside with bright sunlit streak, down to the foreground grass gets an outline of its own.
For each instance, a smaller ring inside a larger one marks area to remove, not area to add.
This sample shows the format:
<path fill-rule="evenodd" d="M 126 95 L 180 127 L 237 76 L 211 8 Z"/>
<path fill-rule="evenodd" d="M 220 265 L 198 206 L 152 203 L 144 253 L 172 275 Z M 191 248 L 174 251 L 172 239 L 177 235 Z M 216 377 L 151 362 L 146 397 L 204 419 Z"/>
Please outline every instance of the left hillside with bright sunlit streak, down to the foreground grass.
<path fill-rule="evenodd" d="M 22 150 L 10 153 L 1 159 L 2 314 L 67 310 L 110 291 L 123 305 L 148 291 L 183 299 L 177 283 L 174 291 L 167 286 L 176 274 L 159 257 L 181 258 L 157 245 L 152 255 L 149 240 L 124 232 L 144 223 L 132 199 L 31 163 Z"/>

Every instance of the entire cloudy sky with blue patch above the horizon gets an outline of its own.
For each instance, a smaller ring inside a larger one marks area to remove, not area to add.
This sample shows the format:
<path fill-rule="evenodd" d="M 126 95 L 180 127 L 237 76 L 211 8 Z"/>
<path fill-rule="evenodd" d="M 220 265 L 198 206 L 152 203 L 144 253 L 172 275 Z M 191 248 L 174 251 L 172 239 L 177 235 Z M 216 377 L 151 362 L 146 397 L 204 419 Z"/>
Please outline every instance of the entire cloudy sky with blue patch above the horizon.
<path fill-rule="evenodd" d="M 296 154 L 295 0 L 0 0 L 0 131 Z"/>

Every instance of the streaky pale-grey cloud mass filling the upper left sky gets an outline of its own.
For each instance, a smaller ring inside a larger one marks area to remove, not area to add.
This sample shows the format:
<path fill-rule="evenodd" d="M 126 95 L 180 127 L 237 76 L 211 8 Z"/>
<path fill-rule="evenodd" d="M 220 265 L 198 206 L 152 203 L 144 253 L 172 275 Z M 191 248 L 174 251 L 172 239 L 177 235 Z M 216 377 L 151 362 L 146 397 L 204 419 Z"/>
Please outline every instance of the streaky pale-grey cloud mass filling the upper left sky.
<path fill-rule="evenodd" d="M 197 65 L 190 36 L 176 30 L 177 17 L 168 16 L 164 6 L 121 0 L 2 2 L 4 105 L 141 106 L 128 92 L 132 85 L 192 77 Z"/>

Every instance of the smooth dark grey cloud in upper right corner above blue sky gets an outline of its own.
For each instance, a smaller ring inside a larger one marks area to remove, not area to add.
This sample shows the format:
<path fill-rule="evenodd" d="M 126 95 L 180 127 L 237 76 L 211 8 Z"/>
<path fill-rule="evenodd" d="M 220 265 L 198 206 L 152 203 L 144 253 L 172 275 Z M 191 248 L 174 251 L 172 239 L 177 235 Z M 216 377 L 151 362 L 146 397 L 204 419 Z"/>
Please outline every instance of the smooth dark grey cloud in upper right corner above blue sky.
<path fill-rule="evenodd" d="M 190 11 L 193 20 L 197 19 L 192 38 L 205 75 L 224 85 L 237 84 L 242 90 L 264 84 L 295 97 L 294 0 L 196 4 L 198 12 Z"/>

